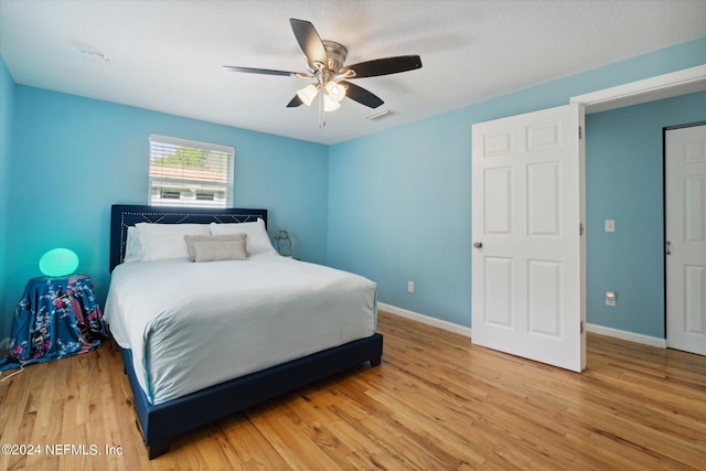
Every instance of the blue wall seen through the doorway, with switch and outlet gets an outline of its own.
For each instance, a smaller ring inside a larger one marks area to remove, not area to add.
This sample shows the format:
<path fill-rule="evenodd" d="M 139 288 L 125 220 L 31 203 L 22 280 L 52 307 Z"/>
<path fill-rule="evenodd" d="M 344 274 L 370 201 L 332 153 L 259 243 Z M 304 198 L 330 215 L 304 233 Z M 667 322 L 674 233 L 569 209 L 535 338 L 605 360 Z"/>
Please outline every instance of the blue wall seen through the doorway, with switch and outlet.
<path fill-rule="evenodd" d="M 704 120 L 706 92 L 586 117 L 589 323 L 665 336 L 663 128 Z"/>

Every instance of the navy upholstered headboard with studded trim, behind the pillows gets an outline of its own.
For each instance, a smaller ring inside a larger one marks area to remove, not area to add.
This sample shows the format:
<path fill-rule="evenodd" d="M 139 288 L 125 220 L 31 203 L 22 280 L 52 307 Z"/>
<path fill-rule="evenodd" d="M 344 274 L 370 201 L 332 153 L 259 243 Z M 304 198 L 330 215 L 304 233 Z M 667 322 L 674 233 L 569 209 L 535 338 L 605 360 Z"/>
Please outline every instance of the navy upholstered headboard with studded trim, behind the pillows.
<path fill-rule="evenodd" d="M 208 224 L 250 223 L 260 217 L 267 226 L 267 210 L 167 207 L 114 204 L 110 210 L 110 271 L 122 263 L 128 226 L 137 223 Z"/>

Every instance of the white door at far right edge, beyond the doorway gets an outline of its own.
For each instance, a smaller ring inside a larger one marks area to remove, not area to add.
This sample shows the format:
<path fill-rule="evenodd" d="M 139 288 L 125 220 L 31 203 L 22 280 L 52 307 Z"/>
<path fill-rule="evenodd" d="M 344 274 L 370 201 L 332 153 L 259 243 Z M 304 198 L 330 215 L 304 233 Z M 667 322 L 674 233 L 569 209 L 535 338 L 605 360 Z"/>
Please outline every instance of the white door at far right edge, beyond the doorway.
<path fill-rule="evenodd" d="M 706 355 L 706 125 L 665 137 L 666 345 Z"/>

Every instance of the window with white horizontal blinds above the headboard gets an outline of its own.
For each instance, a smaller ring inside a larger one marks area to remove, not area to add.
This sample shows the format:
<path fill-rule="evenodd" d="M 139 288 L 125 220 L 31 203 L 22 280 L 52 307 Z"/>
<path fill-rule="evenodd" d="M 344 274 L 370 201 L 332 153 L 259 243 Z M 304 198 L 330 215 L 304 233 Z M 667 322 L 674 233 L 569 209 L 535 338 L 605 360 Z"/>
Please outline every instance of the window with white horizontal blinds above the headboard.
<path fill-rule="evenodd" d="M 150 136 L 150 204 L 232 206 L 234 153 L 229 146 Z"/>

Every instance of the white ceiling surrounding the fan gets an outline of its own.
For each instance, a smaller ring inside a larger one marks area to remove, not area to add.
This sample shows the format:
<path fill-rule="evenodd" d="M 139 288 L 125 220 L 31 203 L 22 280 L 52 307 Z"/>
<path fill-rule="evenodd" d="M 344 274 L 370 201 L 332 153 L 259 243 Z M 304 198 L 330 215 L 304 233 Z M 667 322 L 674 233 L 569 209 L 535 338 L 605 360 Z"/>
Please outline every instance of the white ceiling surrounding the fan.
<path fill-rule="evenodd" d="M 345 99 L 320 130 L 315 107 L 286 108 L 304 81 L 222 69 L 306 72 L 290 18 L 346 64 L 418 54 L 422 68 L 355 81 L 385 104 Z M 704 0 L 0 0 L 18 84 L 329 144 L 703 36 Z"/>

